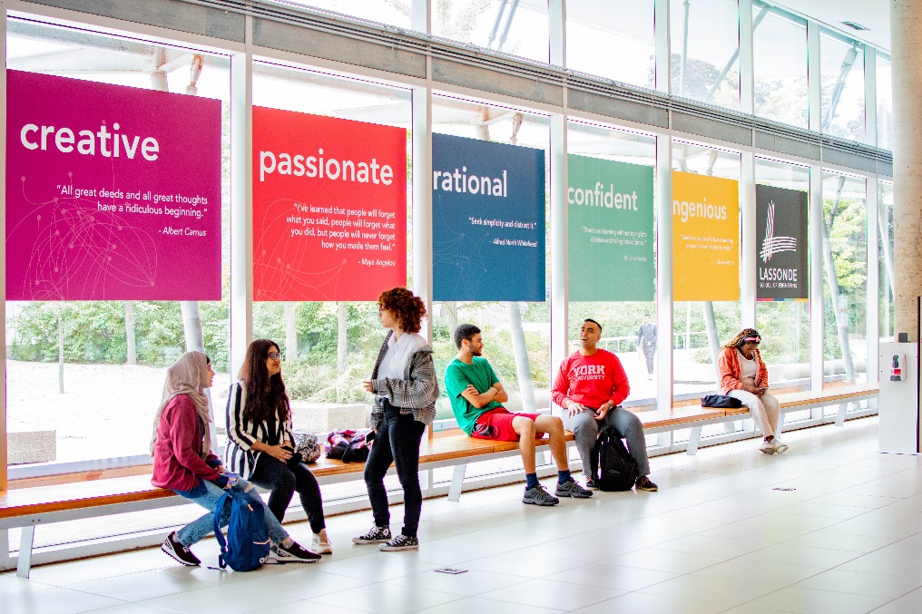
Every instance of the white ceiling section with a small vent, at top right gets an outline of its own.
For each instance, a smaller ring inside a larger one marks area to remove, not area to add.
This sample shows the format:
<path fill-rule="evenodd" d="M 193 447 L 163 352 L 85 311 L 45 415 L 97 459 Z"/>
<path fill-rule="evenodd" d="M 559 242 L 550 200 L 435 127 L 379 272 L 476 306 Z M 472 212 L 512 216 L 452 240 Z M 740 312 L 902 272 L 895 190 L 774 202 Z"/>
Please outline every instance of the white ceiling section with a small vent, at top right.
<path fill-rule="evenodd" d="M 771 4 L 782 6 L 804 17 L 845 32 L 859 41 L 869 42 L 879 49 L 890 51 L 890 2 L 888 0 L 772 0 Z M 857 31 L 843 25 L 843 21 L 854 21 L 869 28 Z"/>

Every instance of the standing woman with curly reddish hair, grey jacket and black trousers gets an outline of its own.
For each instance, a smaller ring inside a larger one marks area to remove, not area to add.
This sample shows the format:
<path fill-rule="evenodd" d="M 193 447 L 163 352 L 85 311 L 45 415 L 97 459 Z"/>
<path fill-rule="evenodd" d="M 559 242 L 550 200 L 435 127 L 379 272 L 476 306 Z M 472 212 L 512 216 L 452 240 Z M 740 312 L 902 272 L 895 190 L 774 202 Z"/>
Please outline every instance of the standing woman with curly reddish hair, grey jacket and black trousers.
<path fill-rule="evenodd" d="M 390 289 L 378 297 L 378 318 L 390 332 L 378 352 L 372 379 L 363 382 L 365 390 L 374 393 L 375 437 L 365 464 L 365 486 L 374 526 L 352 541 L 381 543 L 379 549 L 385 551 L 420 548 L 420 442 L 426 426 L 435 419 L 435 399 L 439 397 L 432 348 L 420 335 L 425 315 L 425 304 L 406 288 Z M 391 537 L 391 514 L 384 488 L 384 475 L 391 463 L 396 465 L 404 491 L 404 526 L 396 537 Z"/>

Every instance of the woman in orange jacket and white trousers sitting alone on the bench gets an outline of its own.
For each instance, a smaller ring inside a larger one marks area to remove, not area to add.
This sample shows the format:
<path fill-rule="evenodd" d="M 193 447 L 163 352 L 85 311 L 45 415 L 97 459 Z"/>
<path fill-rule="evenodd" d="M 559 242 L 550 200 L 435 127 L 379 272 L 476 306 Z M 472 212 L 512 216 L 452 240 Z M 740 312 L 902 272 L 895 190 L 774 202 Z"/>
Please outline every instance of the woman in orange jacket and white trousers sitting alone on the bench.
<path fill-rule="evenodd" d="M 720 394 L 739 398 L 749 407 L 752 419 L 764 436 L 759 450 L 766 455 L 780 455 L 787 446 L 774 436 L 780 412 L 778 399 L 768 393 L 768 370 L 758 350 L 761 341 L 757 330 L 744 328 L 724 346 L 717 360 Z"/>

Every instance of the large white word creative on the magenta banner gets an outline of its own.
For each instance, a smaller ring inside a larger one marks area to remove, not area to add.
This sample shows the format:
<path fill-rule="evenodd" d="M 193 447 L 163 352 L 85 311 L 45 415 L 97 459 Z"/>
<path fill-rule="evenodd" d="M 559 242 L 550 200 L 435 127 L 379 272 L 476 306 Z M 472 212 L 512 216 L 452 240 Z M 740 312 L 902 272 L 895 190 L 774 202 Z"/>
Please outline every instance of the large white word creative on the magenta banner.
<path fill-rule="evenodd" d="M 47 151 L 49 141 L 53 141 L 53 147 L 61 153 L 71 153 L 74 151 L 75 143 L 77 153 L 84 156 L 95 156 L 97 143 L 99 143 L 100 155 L 103 158 L 124 158 L 135 159 L 140 145 L 140 153 L 144 159 L 153 162 L 160 153 L 160 144 L 153 136 L 141 139 L 140 136 L 129 137 L 118 134 L 119 124 L 112 124 L 113 132 L 106 129 L 106 125 L 100 125 L 99 132 L 94 133 L 91 130 L 80 130 L 77 135 L 70 128 L 57 128 L 53 125 L 26 124 L 19 131 L 19 142 L 22 147 L 41 151 Z M 53 138 L 49 138 L 53 136 Z M 77 139 L 79 136 L 79 139 Z M 121 138 L 120 138 L 121 137 Z"/>

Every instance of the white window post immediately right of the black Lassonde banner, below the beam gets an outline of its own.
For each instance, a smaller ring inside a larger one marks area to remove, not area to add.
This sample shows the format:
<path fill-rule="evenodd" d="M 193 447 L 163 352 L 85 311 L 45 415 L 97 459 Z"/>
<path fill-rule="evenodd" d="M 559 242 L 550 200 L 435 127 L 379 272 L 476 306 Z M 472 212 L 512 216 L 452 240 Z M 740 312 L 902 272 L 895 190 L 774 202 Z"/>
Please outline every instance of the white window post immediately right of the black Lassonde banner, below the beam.
<path fill-rule="evenodd" d="M 822 166 L 810 166 L 810 390 L 822 390 Z"/>

